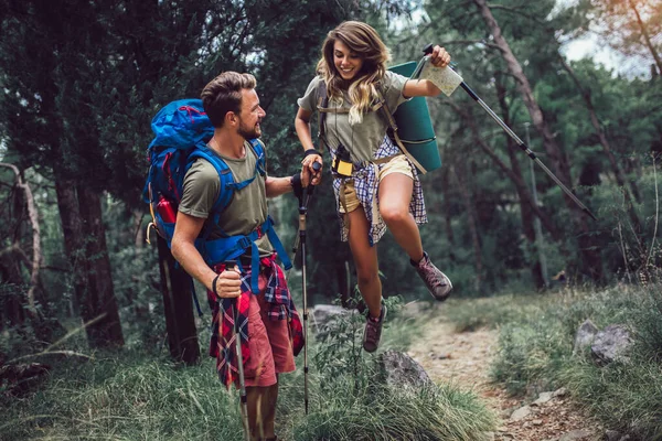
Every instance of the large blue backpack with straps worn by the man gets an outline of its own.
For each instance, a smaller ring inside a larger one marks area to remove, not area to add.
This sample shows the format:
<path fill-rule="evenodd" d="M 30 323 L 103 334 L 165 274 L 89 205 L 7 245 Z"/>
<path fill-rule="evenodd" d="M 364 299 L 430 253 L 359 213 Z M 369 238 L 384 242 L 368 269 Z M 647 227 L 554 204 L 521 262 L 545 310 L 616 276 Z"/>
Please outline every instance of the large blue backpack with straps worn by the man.
<path fill-rule="evenodd" d="M 232 201 L 235 191 L 250 184 L 258 174 L 263 176 L 266 174 L 265 150 L 257 139 L 252 139 L 249 142 L 257 155 L 255 174 L 246 181 L 235 182 L 227 164 L 207 147 L 207 142 L 214 135 L 214 127 L 204 112 L 200 99 L 181 99 L 170 103 L 154 116 L 151 128 L 154 139 L 148 148 L 150 168 L 142 191 L 142 198 L 149 203 L 152 215 L 147 237 L 149 238 L 149 230 L 153 227 L 168 241 L 168 247 L 171 246 L 174 234 L 184 176 L 197 158 L 209 161 L 216 169 L 221 179 L 218 198 L 211 211 L 214 225 L 218 224 L 218 219 Z M 257 276 L 259 272 L 259 251 L 255 240 L 263 234 L 269 237 L 269 241 L 285 268 L 289 269 L 292 266 L 276 235 L 270 216 L 256 230 L 245 236 L 224 235 L 224 237 L 207 240 L 210 233 L 211 228 L 203 228 L 201 236 L 195 240 L 195 248 L 211 267 L 226 260 L 237 260 L 248 248 L 252 249 L 250 288 L 253 292 L 258 292 Z M 243 270 L 241 260 L 237 262 Z"/>

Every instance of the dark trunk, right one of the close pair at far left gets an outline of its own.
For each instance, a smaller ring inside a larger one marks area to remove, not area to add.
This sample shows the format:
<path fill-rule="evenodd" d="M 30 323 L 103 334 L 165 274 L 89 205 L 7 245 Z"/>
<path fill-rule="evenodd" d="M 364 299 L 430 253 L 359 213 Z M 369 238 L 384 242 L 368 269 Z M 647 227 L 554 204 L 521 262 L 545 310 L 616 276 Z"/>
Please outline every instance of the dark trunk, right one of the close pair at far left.
<path fill-rule="evenodd" d="M 113 289 L 99 192 L 85 184 L 78 185 L 76 191 L 87 260 L 87 290 L 81 315 L 86 323 L 94 320 L 85 329 L 87 340 L 92 347 L 119 347 L 124 345 L 124 336 Z"/>

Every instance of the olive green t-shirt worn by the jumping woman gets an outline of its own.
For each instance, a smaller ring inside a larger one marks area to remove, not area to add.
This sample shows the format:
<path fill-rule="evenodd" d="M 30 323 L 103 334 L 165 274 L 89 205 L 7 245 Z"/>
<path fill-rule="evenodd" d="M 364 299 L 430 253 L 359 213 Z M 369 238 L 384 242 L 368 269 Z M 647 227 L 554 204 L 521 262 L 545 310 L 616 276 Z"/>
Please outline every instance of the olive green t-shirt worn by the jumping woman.
<path fill-rule="evenodd" d="M 403 88 L 407 79 L 409 78 L 386 71 L 381 90 L 391 112 L 394 112 L 397 106 L 407 100 L 403 96 Z M 320 76 L 312 78 L 306 89 L 306 94 L 297 100 L 299 107 L 308 111 L 317 111 L 317 89 L 320 82 L 323 82 Z M 329 108 L 349 110 L 350 107 L 352 107 L 352 103 L 346 92 L 343 93 L 342 104 L 338 99 L 329 99 Z M 329 147 L 335 150 L 338 143 L 342 142 L 351 152 L 353 161 L 363 162 L 374 160 L 374 154 L 380 148 L 388 128 L 388 123 L 380 112 L 381 110 L 363 114 L 363 121 L 354 126 L 350 126 L 350 115 L 348 112 L 328 112 L 325 117 L 325 136 Z"/>

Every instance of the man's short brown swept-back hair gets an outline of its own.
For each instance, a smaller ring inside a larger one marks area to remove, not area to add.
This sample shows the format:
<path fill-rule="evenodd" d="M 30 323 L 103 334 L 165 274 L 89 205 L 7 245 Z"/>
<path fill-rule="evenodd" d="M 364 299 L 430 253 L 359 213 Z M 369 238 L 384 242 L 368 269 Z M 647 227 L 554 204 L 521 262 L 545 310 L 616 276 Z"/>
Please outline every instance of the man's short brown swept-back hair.
<path fill-rule="evenodd" d="M 250 74 L 224 72 L 212 79 L 200 98 L 207 117 L 214 127 L 223 127 L 228 111 L 239 114 L 242 110 L 242 89 L 254 89 L 255 77 Z"/>

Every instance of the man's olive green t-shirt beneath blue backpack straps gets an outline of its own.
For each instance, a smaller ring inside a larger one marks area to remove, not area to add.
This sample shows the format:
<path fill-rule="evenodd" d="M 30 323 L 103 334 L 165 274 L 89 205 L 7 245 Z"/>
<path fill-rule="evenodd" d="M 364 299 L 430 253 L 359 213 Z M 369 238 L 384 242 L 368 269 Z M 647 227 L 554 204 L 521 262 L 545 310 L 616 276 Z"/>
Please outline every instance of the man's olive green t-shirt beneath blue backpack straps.
<path fill-rule="evenodd" d="M 232 171 L 235 182 L 242 182 L 255 175 L 257 155 L 250 143 L 244 143 L 246 155 L 242 159 L 228 158 L 217 154 Z M 267 193 L 265 176 L 257 174 L 255 180 L 242 190 L 234 191 L 232 200 L 221 213 L 217 225 L 213 225 L 212 207 L 218 198 L 221 179 L 214 165 L 207 160 L 199 158 L 186 172 L 183 184 L 182 200 L 179 211 L 193 217 L 207 218 L 205 228 L 210 228 L 209 238 L 247 235 L 255 230 L 267 219 Z M 274 247 L 266 235 L 256 240 L 260 256 L 269 256 Z M 250 256 L 250 248 L 246 250 L 245 257 Z"/>

